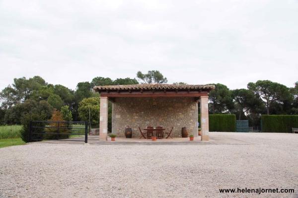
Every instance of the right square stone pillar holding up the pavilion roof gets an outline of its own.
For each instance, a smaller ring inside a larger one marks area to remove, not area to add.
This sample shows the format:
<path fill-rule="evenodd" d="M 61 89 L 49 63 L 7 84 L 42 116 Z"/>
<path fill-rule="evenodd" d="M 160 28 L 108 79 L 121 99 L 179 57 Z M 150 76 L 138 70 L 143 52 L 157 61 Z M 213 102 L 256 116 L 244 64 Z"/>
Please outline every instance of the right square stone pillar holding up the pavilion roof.
<path fill-rule="evenodd" d="M 208 113 L 208 96 L 201 96 L 200 99 L 201 105 L 201 140 L 209 140 L 209 113 Z"/>

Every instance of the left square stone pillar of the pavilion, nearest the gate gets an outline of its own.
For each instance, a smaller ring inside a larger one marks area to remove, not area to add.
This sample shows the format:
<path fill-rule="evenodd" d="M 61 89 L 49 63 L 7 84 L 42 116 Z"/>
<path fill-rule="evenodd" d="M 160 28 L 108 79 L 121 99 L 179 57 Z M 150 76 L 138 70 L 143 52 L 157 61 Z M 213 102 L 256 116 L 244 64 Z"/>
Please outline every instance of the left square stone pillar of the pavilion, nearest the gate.
<path fill-rule="evenodd" d="M 108 97 L 100 97 L 99 140 L 108 137 Z"/>

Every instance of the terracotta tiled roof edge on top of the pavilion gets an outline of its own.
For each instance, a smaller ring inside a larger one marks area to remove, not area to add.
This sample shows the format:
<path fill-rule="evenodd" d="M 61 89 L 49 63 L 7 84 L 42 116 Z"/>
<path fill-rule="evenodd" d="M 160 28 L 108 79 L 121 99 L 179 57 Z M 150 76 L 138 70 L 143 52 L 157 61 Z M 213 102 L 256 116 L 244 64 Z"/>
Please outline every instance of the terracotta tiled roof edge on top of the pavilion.
<path fill-rule="evenodd" d="M 105 90 L 213 90 L 214 85 L 173 85 L 173 84 L 137 84 L 95 86 L 94 91 Z"/>

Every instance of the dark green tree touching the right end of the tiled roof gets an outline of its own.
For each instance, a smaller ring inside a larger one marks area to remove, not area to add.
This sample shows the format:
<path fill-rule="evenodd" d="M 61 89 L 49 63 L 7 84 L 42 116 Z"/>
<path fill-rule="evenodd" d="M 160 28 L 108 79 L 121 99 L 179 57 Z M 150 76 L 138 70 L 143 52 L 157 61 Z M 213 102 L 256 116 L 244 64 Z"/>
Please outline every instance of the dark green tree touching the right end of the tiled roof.
<path fill-rule="evenodd" d="M 218 83 L 211 85 L 215 85 L 215 90 L 209 93 L 210 112 L 215 114 L 232 111 L 234 106 L 231 91 L 223 84 Z"/>

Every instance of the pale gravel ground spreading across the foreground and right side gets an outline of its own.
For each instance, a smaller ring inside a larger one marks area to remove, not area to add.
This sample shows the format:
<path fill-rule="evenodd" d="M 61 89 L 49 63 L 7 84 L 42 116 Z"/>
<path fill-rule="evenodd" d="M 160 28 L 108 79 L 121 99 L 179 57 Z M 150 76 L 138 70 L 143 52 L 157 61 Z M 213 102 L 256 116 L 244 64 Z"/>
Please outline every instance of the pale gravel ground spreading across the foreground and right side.
<path fill-rule="evenodd" d="M 213 144 L 207 145 L 2 148 L 0 198 L 298 197 L 298 134 L 213 132 L 210 137 Z M 295 193 L 219 194 L 237 187 Z"/>

